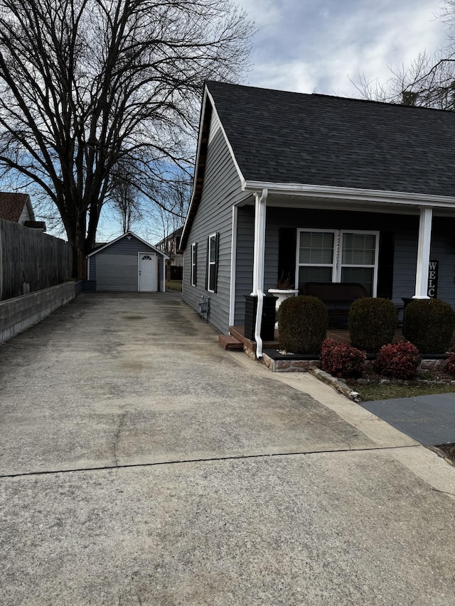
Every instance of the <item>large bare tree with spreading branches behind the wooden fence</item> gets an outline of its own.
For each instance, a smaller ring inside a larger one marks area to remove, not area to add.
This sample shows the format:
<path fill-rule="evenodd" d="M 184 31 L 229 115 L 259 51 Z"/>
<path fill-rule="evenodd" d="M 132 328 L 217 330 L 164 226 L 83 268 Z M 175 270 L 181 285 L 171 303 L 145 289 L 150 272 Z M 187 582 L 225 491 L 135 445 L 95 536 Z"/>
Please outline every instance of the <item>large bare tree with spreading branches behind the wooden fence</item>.
<path fill-rule="evenodd" d="M 147 190 L 184 166 L 203 80 L 235 81 L 252 26 L 230 0 L 0 0 L 0 167 L 92 249 L 119 162 Z"/>

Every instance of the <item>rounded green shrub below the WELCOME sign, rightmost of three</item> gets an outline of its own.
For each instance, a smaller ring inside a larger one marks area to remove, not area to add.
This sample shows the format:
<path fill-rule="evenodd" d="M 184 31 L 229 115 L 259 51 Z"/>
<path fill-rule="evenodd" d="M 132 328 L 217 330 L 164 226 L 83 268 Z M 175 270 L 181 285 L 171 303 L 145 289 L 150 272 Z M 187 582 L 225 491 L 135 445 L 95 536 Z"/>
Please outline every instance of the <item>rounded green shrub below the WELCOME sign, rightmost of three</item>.
<path fill-rule="evenodd" d="M 455 311 L 440 299 L 414 299 L 405 309 L 403 336 L 421 354 L 449 350 L 455 328 Z"/>

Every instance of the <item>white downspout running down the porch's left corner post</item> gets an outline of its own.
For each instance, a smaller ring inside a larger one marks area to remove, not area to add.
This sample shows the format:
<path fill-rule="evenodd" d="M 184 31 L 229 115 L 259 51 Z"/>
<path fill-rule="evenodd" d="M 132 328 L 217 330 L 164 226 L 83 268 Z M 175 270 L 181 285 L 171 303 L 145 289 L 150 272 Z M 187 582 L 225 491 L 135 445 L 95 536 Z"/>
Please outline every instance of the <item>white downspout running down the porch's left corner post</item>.
<path fill-rule="evenodd" d="M 262 306 L 264 299 L 264 251 L 265 251 L 265 208 L 268 190 L 263 189 L 262 195 L 255 193 L 255 257 L 253 263 L 253 292 L 257 296 L 255 341 L 256 357 L 262 358 Z"/>

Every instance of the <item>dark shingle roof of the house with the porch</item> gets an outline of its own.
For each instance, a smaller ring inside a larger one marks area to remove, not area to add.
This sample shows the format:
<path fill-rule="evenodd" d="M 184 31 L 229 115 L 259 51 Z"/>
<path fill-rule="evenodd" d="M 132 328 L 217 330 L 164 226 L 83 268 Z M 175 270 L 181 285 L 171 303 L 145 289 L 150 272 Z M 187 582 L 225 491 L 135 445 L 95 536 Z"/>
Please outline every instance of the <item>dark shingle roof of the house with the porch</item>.
<path fill-rule="evenodd" d="M 247 180 L 455 195 L 455 113 L 208 82 Z"/>

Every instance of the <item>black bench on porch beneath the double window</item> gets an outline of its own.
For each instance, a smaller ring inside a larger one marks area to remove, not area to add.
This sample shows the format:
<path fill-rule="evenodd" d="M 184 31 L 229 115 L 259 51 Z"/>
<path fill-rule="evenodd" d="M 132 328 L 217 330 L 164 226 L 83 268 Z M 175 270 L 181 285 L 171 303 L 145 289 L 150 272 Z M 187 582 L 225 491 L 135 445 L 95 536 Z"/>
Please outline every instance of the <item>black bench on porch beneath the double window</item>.
<path fill-rule="evenodd" d="M 346 325 L 350 305 L 368 297 L 365 286 L 357 282 L 305 282 L 302 294 L 317 297 L 325 303 L 330 325 Z"/>

